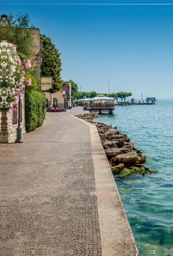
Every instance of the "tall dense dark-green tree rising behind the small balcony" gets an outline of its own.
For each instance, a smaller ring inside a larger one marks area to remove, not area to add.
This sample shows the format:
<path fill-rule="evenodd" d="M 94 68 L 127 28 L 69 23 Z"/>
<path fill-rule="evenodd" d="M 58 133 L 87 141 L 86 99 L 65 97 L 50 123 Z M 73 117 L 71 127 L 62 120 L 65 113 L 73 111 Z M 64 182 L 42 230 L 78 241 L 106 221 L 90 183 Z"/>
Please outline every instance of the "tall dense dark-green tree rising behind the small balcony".
<path fill-rule="evenodd" d="M 58 50 L 55 48 L 55 44 L 52 44 L 51 39 L 45 35 L 40 34 L 40 40 L 42 41 L 41 52 L 41 76 L 52 76 L 54 80 L 53 86 L 48 90 L 50 93 L 55 93 L 62 87 L 61 82 L 61 59 Z"/>

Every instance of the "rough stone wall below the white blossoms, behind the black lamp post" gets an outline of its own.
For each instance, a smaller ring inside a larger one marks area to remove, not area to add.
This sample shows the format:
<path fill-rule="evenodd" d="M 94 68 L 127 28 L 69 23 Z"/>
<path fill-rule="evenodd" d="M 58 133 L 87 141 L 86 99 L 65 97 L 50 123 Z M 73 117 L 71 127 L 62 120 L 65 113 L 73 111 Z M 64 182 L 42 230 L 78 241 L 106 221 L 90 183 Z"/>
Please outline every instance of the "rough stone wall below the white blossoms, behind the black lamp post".
<path fill-rule="evenodd" d="M 21 92 L 21 108 L 20 112 L 22 114 L 22 134 L 26 132 L 25 126 L 25 93 Z M 17 114 L 18 118 L 18 114 Z M 13 124 L 13 113 L 1 112 L 0 113 L 0 143 L 9 143 L 16 138 L 16 128 L 18 124 Z"/>

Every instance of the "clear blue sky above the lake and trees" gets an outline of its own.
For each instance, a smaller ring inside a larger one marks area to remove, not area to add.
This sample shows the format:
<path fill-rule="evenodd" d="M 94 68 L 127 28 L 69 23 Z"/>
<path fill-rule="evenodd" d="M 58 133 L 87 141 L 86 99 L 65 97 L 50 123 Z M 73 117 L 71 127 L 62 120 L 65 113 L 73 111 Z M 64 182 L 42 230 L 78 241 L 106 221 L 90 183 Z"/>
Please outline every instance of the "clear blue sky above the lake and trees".
<path fill-rule="evenodd" d="M 108 93 L 109 77 L 110 93 L 173 98 L 173 1 L 125 5 L 165 1 L 7 0 L 0 8 L 1 14 L 28 12 L 31 23 L 61 52 L 62 79 L 72 79 L 82 91 Z"/>

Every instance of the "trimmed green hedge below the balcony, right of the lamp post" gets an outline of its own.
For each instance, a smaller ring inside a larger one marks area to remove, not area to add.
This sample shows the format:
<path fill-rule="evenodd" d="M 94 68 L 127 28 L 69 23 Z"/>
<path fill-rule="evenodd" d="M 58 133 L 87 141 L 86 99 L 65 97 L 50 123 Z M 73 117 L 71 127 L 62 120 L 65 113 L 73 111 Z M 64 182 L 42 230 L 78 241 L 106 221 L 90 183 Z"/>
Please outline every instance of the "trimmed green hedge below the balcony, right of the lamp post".
<path fill-rule="evenodd" d="M 44 92 L 25 92 L 26 131 L 35 130 L 44 121 L 46 96 Z"/>

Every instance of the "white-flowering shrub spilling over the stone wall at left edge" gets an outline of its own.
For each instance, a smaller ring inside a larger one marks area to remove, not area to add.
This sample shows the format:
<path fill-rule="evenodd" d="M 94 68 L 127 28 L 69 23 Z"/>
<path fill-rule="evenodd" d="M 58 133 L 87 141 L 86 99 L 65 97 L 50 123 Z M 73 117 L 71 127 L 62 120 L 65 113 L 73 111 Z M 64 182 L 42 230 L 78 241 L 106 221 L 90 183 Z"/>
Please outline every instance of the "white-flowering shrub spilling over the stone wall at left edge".
<path fill-rule="evenodd" d="M 18 105 L 20 90 L 24 88 L 24 74 L 16 45 L 0 43 L 0 110 L 8 111 Z"/>

